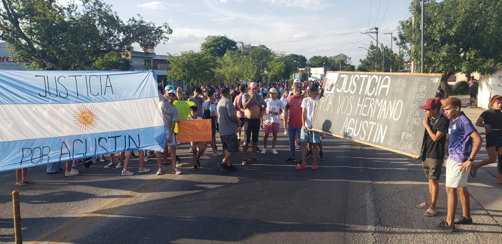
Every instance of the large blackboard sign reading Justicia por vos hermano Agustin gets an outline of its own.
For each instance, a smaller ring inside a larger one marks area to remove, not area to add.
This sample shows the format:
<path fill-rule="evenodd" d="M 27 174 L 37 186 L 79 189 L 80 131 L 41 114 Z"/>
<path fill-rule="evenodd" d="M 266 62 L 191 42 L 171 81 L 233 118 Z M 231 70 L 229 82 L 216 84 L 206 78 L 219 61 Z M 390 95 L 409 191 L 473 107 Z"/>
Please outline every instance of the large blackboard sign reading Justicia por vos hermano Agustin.
<path fill-rule="evenodd" d="M 441 74 L 328 71 L 312 130 L 418 157 L 425 130 L 419 107 L 440 80 Z"/>

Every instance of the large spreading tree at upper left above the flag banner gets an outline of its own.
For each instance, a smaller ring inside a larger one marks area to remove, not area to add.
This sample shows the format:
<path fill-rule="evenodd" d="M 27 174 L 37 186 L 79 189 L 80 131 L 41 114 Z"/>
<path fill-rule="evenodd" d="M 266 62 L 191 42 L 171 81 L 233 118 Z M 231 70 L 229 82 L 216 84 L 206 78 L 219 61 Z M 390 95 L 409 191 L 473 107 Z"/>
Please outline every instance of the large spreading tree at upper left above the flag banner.
<path fill-rule="evenodd" d="M 122 21 L 101 0 L 82 0 L 81 6 L 58 5 L 55 0 L 0 0 L 0 39 L 31 69 L 85 70 L 110 52 L 131 45 L 156 46 L 172 33 L 138 16 Z"/>

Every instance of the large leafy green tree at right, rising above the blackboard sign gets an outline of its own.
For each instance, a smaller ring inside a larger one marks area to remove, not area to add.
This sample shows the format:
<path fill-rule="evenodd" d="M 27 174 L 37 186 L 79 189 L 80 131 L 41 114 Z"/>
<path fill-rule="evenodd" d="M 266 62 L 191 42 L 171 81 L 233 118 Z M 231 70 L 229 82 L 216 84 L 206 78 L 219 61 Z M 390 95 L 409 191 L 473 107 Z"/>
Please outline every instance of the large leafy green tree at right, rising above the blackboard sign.
<path fill-rule="evenodd" d="M 444 0 L 425 6 L 426 73 L 443 73 L 441 88 L 448 78 L 462 72 L 491 74 L 502 62 L 502 1 Z M 400 23 L 399 39 L 411 46 L 408 55 L 420 67 L 420 15 L 417 1 L 410 6 L 412 17 Z M 415 19 L 415 22 L 413 21 Z"/>

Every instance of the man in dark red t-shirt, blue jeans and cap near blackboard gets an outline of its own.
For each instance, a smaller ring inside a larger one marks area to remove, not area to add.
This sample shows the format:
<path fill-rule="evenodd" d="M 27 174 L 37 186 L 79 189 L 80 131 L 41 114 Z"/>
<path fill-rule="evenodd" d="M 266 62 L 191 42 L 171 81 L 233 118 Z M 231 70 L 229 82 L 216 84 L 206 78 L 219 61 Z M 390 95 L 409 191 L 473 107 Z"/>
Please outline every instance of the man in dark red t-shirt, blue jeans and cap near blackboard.
<path fill-rule="evenodd" d="M 300 83 L 293 83 L 293 86 L 291 87 L 291 91 L 293 92 L 293 95 L 288 98 L 288 102 L 286 103 L 285 106 L 285 112 L 284 114 L 288 114 L 288 134 L 289 134 L 289 150 L 290 150 L 290 157 L 286 159 L 285 162 L 296 162 L 295 158 L 295 136 L 300 138 L 300 132 L 302 130 L 302 100 L 303 96 L 301 96 L 301 84 Z M 300 148 L 300 155 L 302 151 Z M 301 160 L 300 160 L 301 164 Z"/>

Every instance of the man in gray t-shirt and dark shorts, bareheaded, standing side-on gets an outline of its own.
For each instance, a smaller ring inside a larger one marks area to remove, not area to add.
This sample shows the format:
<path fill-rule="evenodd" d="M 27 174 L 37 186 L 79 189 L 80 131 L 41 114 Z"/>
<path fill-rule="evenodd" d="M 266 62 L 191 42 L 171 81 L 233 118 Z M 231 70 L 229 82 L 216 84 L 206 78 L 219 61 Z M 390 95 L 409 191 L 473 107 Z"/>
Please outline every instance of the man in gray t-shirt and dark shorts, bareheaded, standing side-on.
<path fill-rule="evenodd" d="M 216 106 L 216 112 L 218 113 L 219 135 L 225 150 L 225 158 L 221 163 L 218 163 L 218 167 L 222 173 L 228 173 L 229 170 L 237 169 L 230 163 L 230 157 L 239 151 L 237 128 L 241 121 L 235 114 L 235 107 L 230 100 L 230 90 L 223 87 L 220 92 L 221 99 Z"/>

